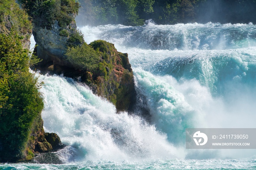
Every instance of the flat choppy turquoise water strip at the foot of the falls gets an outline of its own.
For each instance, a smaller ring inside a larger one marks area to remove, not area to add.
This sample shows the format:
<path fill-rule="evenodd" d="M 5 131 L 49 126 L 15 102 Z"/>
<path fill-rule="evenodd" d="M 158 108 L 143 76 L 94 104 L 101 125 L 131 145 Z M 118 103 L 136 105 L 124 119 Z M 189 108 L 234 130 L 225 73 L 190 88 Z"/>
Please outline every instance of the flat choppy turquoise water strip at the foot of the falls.
<path fill-rule="evenodd" d="M 40 165 L 40 164 L 4 164 L 0 165 L 1 170 L 254 170 L 255 160 L 170 160 L 170 161 L 146 161 L 146 162 L 86 162 L 69 163 L 64 165 Z"/>

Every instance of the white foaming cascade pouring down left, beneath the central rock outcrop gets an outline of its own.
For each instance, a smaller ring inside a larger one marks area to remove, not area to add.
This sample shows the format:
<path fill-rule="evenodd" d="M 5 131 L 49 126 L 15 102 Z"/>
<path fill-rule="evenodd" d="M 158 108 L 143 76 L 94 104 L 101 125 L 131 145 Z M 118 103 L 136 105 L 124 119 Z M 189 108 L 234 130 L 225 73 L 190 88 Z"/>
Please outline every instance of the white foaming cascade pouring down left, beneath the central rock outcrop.
<path fill-rule="evenodd" d="M 59 152 L 64 161 L 184 157 L 154 126 L 125 112 L 116 114 L 113 104 L 87 87 L 60 76 L 37 76 L 45 83 L 40 90 L 45 131 L 57 133 L 65 145 L 72 146 Z"/>

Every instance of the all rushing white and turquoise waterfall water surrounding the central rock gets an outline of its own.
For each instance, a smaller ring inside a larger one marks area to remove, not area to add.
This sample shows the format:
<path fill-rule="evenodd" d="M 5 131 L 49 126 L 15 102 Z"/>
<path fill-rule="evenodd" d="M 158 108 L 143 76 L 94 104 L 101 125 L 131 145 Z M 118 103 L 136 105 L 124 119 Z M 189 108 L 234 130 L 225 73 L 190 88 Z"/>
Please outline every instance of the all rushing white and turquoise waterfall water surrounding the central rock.
<path fill-rule="evenodd" d="M 185 149 L 186 128 L 256 128 L 255 25 L 79 29 L 87 43 L 104 39 L 128 53 L 138 111 L 116 114 L 88 87 L 37 73 L 44 81 L 44 129 L 68 145 L 56 153 L 65 164 L 0 169 L 256 169 L 253 149 Z M 150 115 L 142 116 L 141 107 Z"/>

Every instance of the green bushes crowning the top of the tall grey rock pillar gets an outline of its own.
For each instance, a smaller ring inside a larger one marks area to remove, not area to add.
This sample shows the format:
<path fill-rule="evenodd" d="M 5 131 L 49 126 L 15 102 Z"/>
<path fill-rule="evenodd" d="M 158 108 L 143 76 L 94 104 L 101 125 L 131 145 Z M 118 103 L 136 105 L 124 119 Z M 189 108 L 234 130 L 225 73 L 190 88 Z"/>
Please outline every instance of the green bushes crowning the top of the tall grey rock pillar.
<path fill-rule="evenodd" d="M 33 23 L 40 27 L 50 28 L 54 20 L 60 27 L 66 27 L 78 14 L 79 3 L 75 0 L 19 0 L 23 8 L 33 18 Z"/>

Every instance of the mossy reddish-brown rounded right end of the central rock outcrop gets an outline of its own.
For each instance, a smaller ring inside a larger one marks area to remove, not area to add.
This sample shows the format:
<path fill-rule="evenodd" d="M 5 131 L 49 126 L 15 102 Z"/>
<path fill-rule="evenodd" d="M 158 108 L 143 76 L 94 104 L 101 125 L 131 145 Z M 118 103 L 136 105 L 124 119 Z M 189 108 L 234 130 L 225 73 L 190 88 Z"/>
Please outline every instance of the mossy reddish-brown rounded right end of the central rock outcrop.
<path fill-rule="evenodd" d="M 135 103 L 136 92 L 128 54 L 116 50 L 114 44 L 97 40 L 90 44 L 101 52 L 101 65 L 92 73 L 94 92 L 116 105 L 117 111 L 129 111 Z M 85 79 L 84 81 L 88 81 Z"/>

